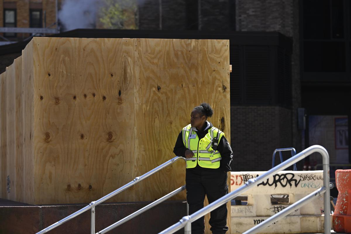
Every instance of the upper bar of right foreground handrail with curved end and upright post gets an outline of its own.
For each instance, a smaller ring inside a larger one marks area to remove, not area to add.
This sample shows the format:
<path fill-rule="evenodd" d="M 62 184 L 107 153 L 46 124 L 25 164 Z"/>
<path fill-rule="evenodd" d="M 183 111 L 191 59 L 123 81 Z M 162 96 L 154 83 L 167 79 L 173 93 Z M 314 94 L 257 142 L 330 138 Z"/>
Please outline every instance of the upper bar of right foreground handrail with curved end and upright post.
<path fill-rule="evenodd" d="M 175 223 L 171 227 L 163 230 L 160 234 L 170 234 L 178 231 L 179 229 L 183 228 L 188 222 L 193 222 L 200 217 L 204 216 L 205 214 L 211 212 L 212 210 L 218 208 L 219 206 L 223 205 L 224 203 L 230 201 L 231 199 L 237 197 L 238 195 L 242 194 L 243 192 L 249 190 L 252 186 L 257 185 L 258 183 L 269 179 L 273 174 L 282 171 L 286 167 L 293 165 L 294 163 L 300 161 L 301 159 L 306 158 L 308 155 L 317 152 L 322 154 L 323 158 L 323 186 L 326 188 L 324 193 L 324 231 L 326 234 L 330 234 L 330 206 L 329 206 L 329 155 L 326 149 L 322 146 L 314 145 L 311 146 L 304 151 L 298 153 L 297 155 L 291 157 L 290 159 L 280 163 L 276 167 L 273 167 L 266 173 L 254 178 L 249 179 L 243 186 L 239 187 L 238 189 L 234 190 L 233 192 L 224 195 L 223 197 L 219 198 L 218 200 L 212 202 L 208 206 L 198 210 L 192 215 L 184 216 L 178 223 Z"/>

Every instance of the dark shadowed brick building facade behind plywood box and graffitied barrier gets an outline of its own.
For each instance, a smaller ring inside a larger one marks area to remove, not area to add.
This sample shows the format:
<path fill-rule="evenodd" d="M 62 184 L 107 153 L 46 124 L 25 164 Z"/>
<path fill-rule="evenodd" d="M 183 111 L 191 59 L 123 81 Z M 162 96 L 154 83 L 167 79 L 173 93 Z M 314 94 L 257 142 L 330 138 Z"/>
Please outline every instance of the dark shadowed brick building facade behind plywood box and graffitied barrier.
<path fill-rule="evenodd" d="M 146 0 L 139 13 L 140 29 L 279 32 L 291 39 L 291 47 L 260 43 L 259 34 L 245 45 L 231 39 L 234 170 L 267 170 L 274 149 L 314 144 L 329 151 L 331 164 L 348 167 L 350 1 Z M 305 160 L 307 169 L 319 163 L 319 155 Z"/>

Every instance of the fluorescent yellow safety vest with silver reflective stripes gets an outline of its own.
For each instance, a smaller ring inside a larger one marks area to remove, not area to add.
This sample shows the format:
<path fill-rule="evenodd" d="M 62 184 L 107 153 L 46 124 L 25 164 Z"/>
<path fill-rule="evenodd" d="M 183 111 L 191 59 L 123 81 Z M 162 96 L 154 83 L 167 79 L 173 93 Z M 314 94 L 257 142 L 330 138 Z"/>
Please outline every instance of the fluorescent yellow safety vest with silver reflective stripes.
<path fill-rule="evenodd" d="M 208 128 L 208 133 L 205 137 L 199 140 L 196 131 L 189 124 L 183 128 L 182 133 L 185 148 L 188 148 L 194 153 L 193 158 L 186 159 L 186 168 L 194 168 L 197 163 L 200 167 L 219 168 L 219 160 L 222 157 L 217 150 L 213 150 L 212 146 L 216 145 L 216 143 L 212 142 L 215 138 L 218 138 L 217 142 L 219 142 L 222 136 L 224 136 L 223 132 L 216 127 L 211 127 Z"/>

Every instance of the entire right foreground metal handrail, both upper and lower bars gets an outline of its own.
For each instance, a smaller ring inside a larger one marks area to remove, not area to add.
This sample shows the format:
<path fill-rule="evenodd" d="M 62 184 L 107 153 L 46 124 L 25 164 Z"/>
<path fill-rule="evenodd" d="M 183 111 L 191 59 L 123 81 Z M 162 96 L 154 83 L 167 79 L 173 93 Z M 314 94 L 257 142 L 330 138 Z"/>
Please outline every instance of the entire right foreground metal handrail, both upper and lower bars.
<path fill-rule="evenodd" d="M 290 159 L 280 163 L 279 165 L 273 167 L 266 173 L 256 177 L 254 179 L 249 179 L 243 186 L 239 187 L 238 189 L 234 190 L 233 192 L 224 195 L 220 199 L 212 202 L 208 206 L 198 210 L 197 212 L 184 216 L 178 223 L 175 223 L 171 227 L 163 230 L 159 234 L 170 234 L 174 233 L 177 230 L 183 228 L 188 223 L 192 223 L 193 221 L 199 219 L 200 217 L 204 216 L 205 214 L 211 212 L 212 210 L 220 207 L 221 205 L 225 204 L 226 202 L 232 200 L 233 198 L 237 197 L 238 195 L 242 194 L 243 192 L 249 190 L 252 186 L 258 185 L 261 181 L 265 181 L 269 179 L 273 174 L 282 171 L 294 163 L 306 158 L 308 155 L 312 153 L 320 153 L 323 158 L 323 187 L 317 189 L 313 193 L 307 195 L 305 198 L 299 200 L 298 202 L 293 203 L 288 208 L 278 212 L 277 214 L 271 216 L 269 219 L 261 222 L 259 225 L 251 228 L 250 230 L 246 231 L 243 234 L 254 234 L 259 232 L 261 229 L 265 228 L 266 226 L 271 225 L 274 221 L 277 221 L 287 214 L 289 214 L 292 210 L 297 209 L 303 206 L 306 202 L 311 199 L 317 198 L 317 195 L 322 195 L 324 193 L 324 233 L 330 234 L 330 204 L 329 204 L 329 196 L 330 196 L 330 188 L 329 188 L 329 155 L 326 149 L 322 146 L 314 145 L 311 146 L 304 151 L 298 153 L 297 155 L 291 157 Z"/>

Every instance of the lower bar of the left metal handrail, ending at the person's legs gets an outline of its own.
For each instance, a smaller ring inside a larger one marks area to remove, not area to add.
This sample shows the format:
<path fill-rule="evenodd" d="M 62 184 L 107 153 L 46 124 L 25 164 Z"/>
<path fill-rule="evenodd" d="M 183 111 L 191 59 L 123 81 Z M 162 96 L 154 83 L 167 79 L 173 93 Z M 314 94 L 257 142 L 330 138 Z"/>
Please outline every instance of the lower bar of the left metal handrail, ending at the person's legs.
<path fill-rule="evenodd" d="M 149 205 L 147 205 L 147 206 L 145 206 L 145 207 L 143 207 L 143 208 L 137 210 L 137 211 L 134 212 L 133 214 L 128 215 L 127 217 L 125 217 L 125 218 L 119 220 L 118 222 L 115 222 L 114 224 L 108 226 L 107 228 L 102 229 L 100 232 L 97 232 L 96 234 L 103 234 L 103 233 L 107 233 L 107 232 L 111 231 L 113 228 L 116 228 L 116 227 L 118 227 L 119 225 L 121 225 L 122 223 L 125 223 L 125 222 L 127 222 L 128 220 L 133 219 L 135 216 L 137 216 L 137 215 L 139 215 L 139 214 L 145 212 L 145 211 L 148 210 L 148 209 L 151 209 L 152 207 L 154 207 L 154 206 L 158 205 L 159 203 L 161 203 L 161 202 L 167 200 L 168 198 L 171 198 L 172 196 L 174 196 L 174 195 L 180 193 L 181 191 L 183 191 L 184 189 L 185 189 L 185 185 L 181 186 L 180 188 L 174 190 L 174 191 L 171 192 L 171 193 L 168 193 L 167 195 L 165 195 L 165 196 L 163 196 L 162 198 L 160 198 L 160 199 L 158 199 L 158 200 L 156 200 L 156 201 L 150 203 Z"/>

